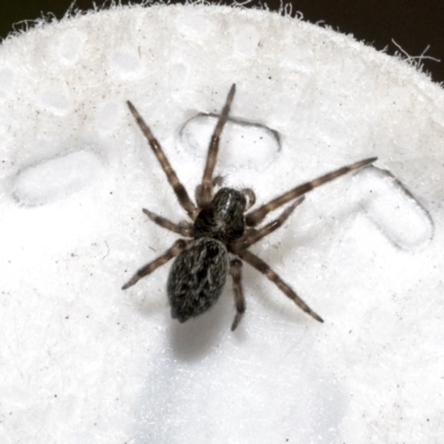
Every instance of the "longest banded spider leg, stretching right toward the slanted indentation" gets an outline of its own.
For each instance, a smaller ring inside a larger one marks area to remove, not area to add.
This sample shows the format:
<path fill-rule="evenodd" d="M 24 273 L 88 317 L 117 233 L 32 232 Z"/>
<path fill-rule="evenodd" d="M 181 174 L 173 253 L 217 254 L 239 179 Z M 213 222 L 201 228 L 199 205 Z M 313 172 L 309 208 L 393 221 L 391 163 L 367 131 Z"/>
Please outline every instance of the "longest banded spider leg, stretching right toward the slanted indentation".
<path fill-rule="evenodd" d="M 321 178 L 303 183 L 302 185 L 297 185 L 292 190 L 287 191 L 286 193 L 283 193 L 282 195 L 263 204 L 258 210 L 254 210 L 251 213 L 246 214 L 245 223 L 250 226 L 254 226 L 259 222 L 261 222 L 266 216 L 266 214 L 270 213 L 270 211 L 273 211 L 276 208 L 285 204 L 286 202 L 290 202 L 293 199 L 296 199 L 300 195 L 305 194 L 306 192 L 313 190 L 314 188 L 321 186 L 324 183 L 332 181 L 333 179 L 340 178 L 341 175 L 346 174 L 350 171 L 357 170 L 362 167 L 369 165 L 370 163 L 373 163 L 376 159 L 377 158 L 370 158 L 356 163 L 352 163 L 351 165 L 340 168 L 339 170 L 332 171 L 331 173 L 321 175 Z"/>

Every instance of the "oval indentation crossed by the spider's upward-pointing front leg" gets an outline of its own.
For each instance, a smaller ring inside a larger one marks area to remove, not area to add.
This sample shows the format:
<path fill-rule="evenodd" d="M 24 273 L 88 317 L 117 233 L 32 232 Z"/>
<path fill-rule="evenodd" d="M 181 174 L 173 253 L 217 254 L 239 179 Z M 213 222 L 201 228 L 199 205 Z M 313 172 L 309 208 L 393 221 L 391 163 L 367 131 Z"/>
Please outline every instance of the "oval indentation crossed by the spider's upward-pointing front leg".
<path fill-rule="evenodd" d="M 199 114 L 181 130 L 182 145 L 189 152 L 205 158 L 219 115 Z M 262 170 L 269 165 L 281 143 L 275 131 L 261 124 L 229 120 L 219 147 L 218 164 L 230 168 Z"/>

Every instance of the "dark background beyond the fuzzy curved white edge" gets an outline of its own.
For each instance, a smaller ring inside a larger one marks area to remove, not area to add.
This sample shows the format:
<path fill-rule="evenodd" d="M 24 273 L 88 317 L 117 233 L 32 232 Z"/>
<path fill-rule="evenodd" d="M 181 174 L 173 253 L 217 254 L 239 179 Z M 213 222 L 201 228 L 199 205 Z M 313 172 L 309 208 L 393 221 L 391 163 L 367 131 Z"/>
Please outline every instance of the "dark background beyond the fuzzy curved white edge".
<path fill-rule="evenodd" d="M 127 4 L 127 0 L 120 1 Z M 170 1 L 170 3 L 183 1 Z M 230 4 L 231 1 L 216 1 Z M 34 20 L 42 14 L 53 13 L 62 18 L 72 0 L 0 0 L 0 38 L 23 27 L 22 20 Z M 77 0 L 74 9 L 93 9 L 93 0 Z M 95 0 L 98 7 L 110 1 Z M 133 3 L 138 3 L 133 0 Z M 265 0 L 270 10 L 278 11 L 280 0 Z M 435 82 L 444 82 L 444 0 L 292 0 L 292 14 L 301 12 L 304 20 L 320 22 L 343 33 L 351 33 L 357 40 L 374 48 L 386 49 L 393 54 L 400 51 L 392 39 L 410 56 L 425 56 L 442 60 L 423 60 L 426 71 Z M 258 7 L 261 1 L 252 0 L 246 7 Z"/>

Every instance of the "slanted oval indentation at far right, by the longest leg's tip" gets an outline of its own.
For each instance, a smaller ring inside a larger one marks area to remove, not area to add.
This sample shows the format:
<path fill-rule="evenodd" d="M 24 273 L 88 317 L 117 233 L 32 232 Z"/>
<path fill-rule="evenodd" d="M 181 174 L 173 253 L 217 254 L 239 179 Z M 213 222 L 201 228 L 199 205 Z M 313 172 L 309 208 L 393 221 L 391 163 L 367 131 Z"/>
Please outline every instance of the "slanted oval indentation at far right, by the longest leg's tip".
<path fill-rule="evenodd" d="M 384 235 L 402 250 L 417 250 L 433 238 L 433 220 L 389 171 L 367 167 L 356 174 L 362 205 Z"/>

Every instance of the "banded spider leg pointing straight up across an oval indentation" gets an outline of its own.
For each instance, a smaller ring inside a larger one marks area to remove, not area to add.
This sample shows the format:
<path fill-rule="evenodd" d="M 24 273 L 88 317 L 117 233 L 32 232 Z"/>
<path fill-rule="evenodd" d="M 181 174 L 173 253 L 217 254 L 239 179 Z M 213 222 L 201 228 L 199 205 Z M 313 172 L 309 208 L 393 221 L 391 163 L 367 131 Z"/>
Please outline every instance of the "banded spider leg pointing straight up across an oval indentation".
<path fill-rule="evenodd" d="M 213 135 L 211 137 L 211 142 L 210 142 L 209 151 L 206 154 L 205 169 L 203 170 L 202 184 L 198 191 L 199 192 L 199 202 L 201 202 L 202 206 L 206 205 L 213 196 L 212 178 L 213 178 L 215 161 L 218 158 L 219 141 L 221 139 L 221 133 L 222 133 L 223 127 L 225 125 L 226 120 L 229 118 L 230 107 L 231 107 L 231 102 L 233 101 L 234 92 L 235 92 L 235 84 L 233 84 L 230 89 L 229 95 L 226 97 L 225 104 L 222 109 L 221 117 L 219 118 L 219 121 L 218 121 L 218 124 L 215 125 Z"/>

